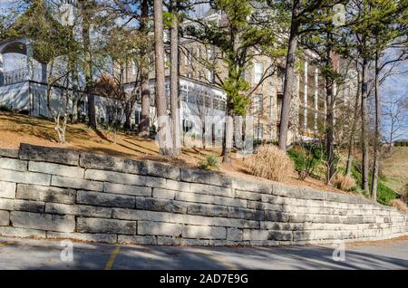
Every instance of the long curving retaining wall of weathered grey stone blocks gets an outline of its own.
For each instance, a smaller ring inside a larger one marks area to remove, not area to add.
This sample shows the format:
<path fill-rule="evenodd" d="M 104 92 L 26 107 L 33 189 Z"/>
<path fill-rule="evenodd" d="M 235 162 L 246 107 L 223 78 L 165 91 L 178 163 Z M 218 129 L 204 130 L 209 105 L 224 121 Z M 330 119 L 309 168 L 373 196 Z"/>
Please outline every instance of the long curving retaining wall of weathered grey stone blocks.
<path fill-rule="evenodd" d="M 292 245 L 408 234 L 364 197 L 151 161 L 0 149 L 0 235 L 142 245 Z"/>

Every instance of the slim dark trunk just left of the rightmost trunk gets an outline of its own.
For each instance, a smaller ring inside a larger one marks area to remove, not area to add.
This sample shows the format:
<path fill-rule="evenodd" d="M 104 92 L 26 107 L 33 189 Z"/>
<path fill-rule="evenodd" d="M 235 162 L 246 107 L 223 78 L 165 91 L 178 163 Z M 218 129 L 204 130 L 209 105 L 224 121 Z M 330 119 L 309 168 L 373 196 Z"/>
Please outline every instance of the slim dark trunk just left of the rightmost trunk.
<path fill-rule="evenodd" d="M 361 85 L 361 145 L 363 152 L 363 175 L 362 175 L 362 184 L 363 189 L 368 191 L 368 141 L 367 141 L 367 132 L 366 132 L 366 114 L 367 114 L 367 96 L 368 96 L 368 83 L 367 83 L 367 66 L 368 62 L 363 59 L 363 80 Z"/>

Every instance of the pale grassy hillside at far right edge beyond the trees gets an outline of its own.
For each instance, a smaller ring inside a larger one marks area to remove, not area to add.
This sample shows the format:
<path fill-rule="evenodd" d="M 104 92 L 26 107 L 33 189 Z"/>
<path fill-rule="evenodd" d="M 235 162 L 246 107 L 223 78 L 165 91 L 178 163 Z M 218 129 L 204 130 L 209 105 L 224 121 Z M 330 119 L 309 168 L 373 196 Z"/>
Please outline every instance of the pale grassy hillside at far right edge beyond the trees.
<path fill-rule="evenodd" d="M 408 147 L 393 147 L 391 154 L 384 158 L 382 170 L 386 184 L 401 192 L 408 183 Z"/>

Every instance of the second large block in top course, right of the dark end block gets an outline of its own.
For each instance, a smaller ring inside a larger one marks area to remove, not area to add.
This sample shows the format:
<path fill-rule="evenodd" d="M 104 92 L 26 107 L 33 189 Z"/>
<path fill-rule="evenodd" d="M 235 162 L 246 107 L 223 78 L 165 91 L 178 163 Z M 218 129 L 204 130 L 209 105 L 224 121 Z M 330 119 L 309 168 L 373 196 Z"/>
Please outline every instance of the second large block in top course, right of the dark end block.
<path fill-rule="evenodd" d="M 112 170 L 130 174 L 147 174 L 147 165 L 145 161 L 102 155 L 92 155 L 87 153 L 81 154 L 80 166 L 83 168 Z"/>

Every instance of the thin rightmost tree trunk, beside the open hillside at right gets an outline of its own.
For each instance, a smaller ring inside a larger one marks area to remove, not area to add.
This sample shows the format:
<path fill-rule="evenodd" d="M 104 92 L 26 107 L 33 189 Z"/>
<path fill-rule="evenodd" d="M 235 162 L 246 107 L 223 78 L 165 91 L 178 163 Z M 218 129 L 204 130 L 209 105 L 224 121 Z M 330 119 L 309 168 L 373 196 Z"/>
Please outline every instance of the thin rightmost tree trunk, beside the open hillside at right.
<path fill-rule="evenodd" d="M 374 72 L 374 101 L 375 101 L 375 139 L 374 139 L 374 167 L 373 178 L 371 182 L 371 197 L 374 201 L 377 201 L 377 183 L 378 183 L 378 170 L 380 149 L 381 149 L 381 108 L 380 108 L 380 82 L 379 82 L 379 68 L 378 68 L 378 51 L 375 51 L 375 72 Z"/>

